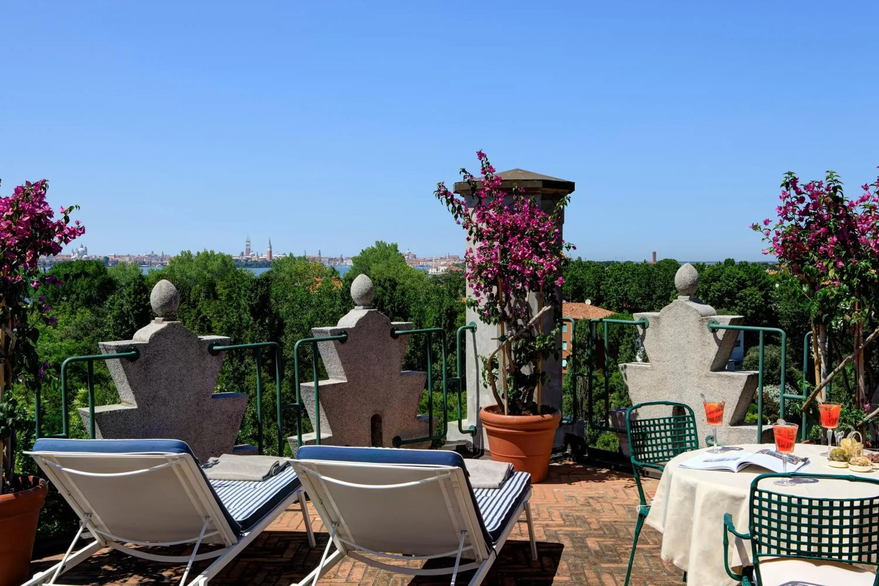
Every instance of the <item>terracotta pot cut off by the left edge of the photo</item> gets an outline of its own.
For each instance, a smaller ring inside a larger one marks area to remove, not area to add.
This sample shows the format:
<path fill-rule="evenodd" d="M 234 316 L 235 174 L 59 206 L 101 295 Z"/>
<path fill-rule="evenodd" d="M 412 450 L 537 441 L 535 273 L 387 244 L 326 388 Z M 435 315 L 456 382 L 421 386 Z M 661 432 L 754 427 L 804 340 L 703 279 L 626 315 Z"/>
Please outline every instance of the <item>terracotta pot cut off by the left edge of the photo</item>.
<path fill-rule="evenodd" d="M 0 586 L 18 586 L 27 578 L 48 490 L 36 476 L 16 476 L 12 485 L 15 492 L 0 495 Z"/>

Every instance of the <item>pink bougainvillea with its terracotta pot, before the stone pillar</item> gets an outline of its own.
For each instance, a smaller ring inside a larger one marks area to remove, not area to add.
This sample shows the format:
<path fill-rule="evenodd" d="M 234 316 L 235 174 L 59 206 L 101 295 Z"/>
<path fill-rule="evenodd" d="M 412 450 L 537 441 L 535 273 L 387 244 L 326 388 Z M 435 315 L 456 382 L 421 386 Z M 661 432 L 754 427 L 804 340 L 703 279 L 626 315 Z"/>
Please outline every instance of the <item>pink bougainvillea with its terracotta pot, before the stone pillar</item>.
<path fill-rule="evenodd" d="M 467 232 L 464 260 L 473 293 L 468 307 L 500 333 L 498 346 L 480 356 L 483 383 L 497 401 L 480 413 L 491 459 L 511 462 L 539 482 L 546 478 L 561 419 L 558 409 L 541 402 L 548 380 L 541 366 L 550 356 L 558 358 L 562 312 L 556 287 L 564 282 L 563 252 L 573 248 L 562 240 L 560 225 L 570 196 L 544 211 L 523 189 L 504 191 L 485 154 L 476 156 L 482 178 L 461 169 L 472 194 L 469 202 L 442 183 L 434 195 Z M 548 313 L 552 327 L 544 331 Z"/>

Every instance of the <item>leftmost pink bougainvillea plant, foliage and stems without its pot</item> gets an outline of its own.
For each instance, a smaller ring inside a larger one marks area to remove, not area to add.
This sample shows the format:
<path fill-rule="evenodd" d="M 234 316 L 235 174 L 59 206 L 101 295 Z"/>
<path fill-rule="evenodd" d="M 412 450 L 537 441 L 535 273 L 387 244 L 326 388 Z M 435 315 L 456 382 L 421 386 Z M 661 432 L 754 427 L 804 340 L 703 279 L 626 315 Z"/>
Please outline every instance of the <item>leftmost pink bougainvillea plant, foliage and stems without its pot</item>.
<path fill-rule="evenodd" d="M 61 282 L 40 271 L 41 256 L 56 255 L 85 228 L 69 214 L 78 206 L 61 208 L 61 218 L 46 202 L 48 182 L 18 185 L 0 198 L 0 492 L 8 489 L 14 470 L 18 406 L 8 391 L 13 382 L 36 390 L 47 365 L 37 356 L 39 321 L 54 325 L 51 307 L 40 287 Z"/>

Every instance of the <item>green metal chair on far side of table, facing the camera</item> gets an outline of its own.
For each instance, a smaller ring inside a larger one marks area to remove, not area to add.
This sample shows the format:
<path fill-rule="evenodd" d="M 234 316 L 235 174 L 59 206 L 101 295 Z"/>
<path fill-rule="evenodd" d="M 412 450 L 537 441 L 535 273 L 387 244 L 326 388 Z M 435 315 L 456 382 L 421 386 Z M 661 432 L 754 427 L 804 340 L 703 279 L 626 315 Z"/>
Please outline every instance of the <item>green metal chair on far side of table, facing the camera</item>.
<path fill-rule="evenodd" d="M 651 405 L 672 407 L 672 415 L 650 419 L 632 419 L 633 411 Z M 641 500 L 638 506 L 638 521 L 635 525 L 632 553 L 628 556 L 625 582 L 628 586 L 628 579 L 632 574 L 632 562 L 635 561 L 638 536 L 641 534 L 644 519 L 650 513 L 650 503 L 647 502 L 647 496 L 644 495 L 644 489 L 641 485 L 641 473 L 644 468 L 653 468 L 662 472 L 665 470 L 665 463 L 670 459 L 680 453 L 698 449 L 699 435 L 696 433 L 696 417 L 693 414 L 693 409 L 683 403 L 668 401 L 638 403 L 628 408 L 626 411 L 626 433 L 628 434 L 632 470 L 635 473 L 635 483 L 638 487 L 638 498 Z M 684 577 L 686 579 L 686 574 Z"/>

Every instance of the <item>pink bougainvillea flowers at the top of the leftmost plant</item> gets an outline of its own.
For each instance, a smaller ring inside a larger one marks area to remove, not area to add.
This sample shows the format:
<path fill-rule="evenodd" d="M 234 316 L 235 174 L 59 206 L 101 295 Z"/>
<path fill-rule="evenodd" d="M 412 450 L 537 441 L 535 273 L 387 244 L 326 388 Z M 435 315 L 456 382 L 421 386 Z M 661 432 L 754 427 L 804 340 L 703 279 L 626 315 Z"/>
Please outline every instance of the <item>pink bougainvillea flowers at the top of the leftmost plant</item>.
<path fill-rule="evenodd" d="M 33 289 L 60 286 L 54 277 L 40 274 L 40 256 L 60 253 L 64 244 L 85 232 L 78 220 L 70 224 L 69 213 L 76 206 L 62 207 L 62 218 L 54 220 L 46 202 L 47 188 L 45 179 L 27 182 L 18 185 L 10 197 L 0 198 L 0 299 L 7 307 L 25 302 L 27 285 Z"/>

